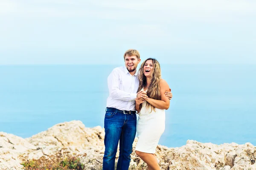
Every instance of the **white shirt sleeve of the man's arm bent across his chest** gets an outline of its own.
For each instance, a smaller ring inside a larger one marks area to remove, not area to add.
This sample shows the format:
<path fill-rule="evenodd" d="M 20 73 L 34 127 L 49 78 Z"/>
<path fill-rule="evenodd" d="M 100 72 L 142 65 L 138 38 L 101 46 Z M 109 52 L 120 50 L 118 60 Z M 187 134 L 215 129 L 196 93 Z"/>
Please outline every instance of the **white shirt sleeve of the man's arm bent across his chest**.
<path fill-rule="evenodd" d="M 135 100 L 137 94 L 128 93 L 119 89 L 121 84 L 121 76 L 119 75 L 118 70 L 114 69 L 111 74 L 108 76 L 108 90 L 109 94 L 113 99 L 119 99 L 123 101 Z"/>

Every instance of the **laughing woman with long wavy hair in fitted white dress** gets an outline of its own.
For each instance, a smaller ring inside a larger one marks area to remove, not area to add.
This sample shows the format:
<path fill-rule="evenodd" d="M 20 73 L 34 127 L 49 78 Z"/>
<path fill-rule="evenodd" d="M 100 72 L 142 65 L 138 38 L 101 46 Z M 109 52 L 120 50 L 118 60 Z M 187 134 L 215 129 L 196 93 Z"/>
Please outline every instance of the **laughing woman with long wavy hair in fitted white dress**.
<path fill-rule="evenodd" d="M 139 91 L 145 91 L 148 97 L 136 99 L 136 111 L 139 112 L 136 154 L 148 164 L 148 170 L 160 170 L 155 156 L 157 144 L 165 129 L 165 110 L 170 100 L 165 95 L 169 85 L 161 79 L 160 64 L 156 59 L 146 59 L 139 70 Z"/>

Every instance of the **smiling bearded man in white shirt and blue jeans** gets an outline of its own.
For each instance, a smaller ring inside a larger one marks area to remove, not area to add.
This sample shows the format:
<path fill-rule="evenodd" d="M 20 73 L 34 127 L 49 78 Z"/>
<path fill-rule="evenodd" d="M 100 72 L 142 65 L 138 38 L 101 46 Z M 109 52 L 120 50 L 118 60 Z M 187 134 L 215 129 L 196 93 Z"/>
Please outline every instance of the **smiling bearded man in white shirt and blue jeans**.
<path fill-rule="evenodd" d="M 134 49 L 125 51 L 124 59 L 125 67 L 114 68 L 108 76 L 109 96 L 104 120 L 103 170 L 114 170 L 118 142 L 117 170 L 128 170 L 137 129 L 135 99 L 148 97 L 145 91 L 137 93 L 139 82 L 136 68 L 140 63 L 139 51 Z M 166 93 L 171 99 L 172 93 Z"/>

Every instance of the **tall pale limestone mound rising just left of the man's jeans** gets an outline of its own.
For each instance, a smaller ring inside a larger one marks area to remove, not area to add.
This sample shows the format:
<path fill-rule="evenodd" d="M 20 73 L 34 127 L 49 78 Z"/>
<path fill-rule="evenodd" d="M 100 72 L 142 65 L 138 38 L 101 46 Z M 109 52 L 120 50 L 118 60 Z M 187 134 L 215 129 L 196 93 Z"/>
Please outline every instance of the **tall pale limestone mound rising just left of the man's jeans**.
<path fill-rule="evenodd" d="M 104 129 L 100 126 L 88 128 L 81 121 L 71 121 L 54 125 L 26 140 L 39 149 L 56 146 L 68 147 L 74 151 L 76 148 L 103 146 L 104 136 Z"/>

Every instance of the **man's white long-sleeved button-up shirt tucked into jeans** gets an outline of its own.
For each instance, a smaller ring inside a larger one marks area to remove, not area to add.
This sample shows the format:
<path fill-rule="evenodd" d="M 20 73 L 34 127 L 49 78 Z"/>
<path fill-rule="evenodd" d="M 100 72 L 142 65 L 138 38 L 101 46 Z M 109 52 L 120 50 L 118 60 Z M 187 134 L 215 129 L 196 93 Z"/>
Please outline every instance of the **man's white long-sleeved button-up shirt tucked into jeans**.
<path fill-rule="evenodd" d="M 138 71 L 132 76 L 126 67 L 114 68 L 108 76 L 107 107 L 135 111 L 138 87 Z"/>

